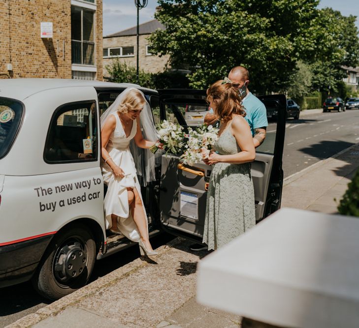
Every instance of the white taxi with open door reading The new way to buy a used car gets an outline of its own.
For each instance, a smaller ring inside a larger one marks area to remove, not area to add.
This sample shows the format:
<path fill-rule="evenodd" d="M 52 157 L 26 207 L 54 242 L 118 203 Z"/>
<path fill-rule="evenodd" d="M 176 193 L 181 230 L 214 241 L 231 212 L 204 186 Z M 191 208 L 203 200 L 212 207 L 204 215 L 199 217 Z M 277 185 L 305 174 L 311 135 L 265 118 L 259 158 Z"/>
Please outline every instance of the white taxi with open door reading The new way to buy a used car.
<path fill-rule="evenodd" d="M 208 107 L 205 90 L 0 80 L 0 287 L 31 279 L 44 297 L 61 298 L 87 283 L 96 260 L 134 244 L 105 231 L 100 169 L 99 117 L 128 87 L 144 92 L 154 121 L 185 129 L 194 119 L 184 109 Z M 278 118 L 252 163 L 257 221 L 280 208 L 287 107 L 284 95 L 259 99 Z M 201 241 L 212 167 L 156 154 L 156 181 L 141 187 L 150 237 L 163 229 Z"/>

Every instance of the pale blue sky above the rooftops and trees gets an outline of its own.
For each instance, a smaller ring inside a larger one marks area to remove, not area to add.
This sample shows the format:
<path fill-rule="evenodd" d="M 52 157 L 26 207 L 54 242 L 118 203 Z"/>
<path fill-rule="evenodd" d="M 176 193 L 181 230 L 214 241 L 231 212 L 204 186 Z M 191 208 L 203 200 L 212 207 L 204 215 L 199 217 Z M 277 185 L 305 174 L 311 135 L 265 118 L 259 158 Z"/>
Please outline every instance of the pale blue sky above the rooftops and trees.
<path fill-rule="evenodd" d="M 342 15 L 359 16 L 359 0 L 321 0 L 319 8 L 332 7 Z M 147 7 L 139 11 L 139 22 L 145 23 L 154 19 L 156 0 L 148 0 Z M 103 35 L 126 30 L 136 26 L 136 7 L 133 0 L 103 0 Z M 359 20 L 357 18 L 359 28 Z"/>

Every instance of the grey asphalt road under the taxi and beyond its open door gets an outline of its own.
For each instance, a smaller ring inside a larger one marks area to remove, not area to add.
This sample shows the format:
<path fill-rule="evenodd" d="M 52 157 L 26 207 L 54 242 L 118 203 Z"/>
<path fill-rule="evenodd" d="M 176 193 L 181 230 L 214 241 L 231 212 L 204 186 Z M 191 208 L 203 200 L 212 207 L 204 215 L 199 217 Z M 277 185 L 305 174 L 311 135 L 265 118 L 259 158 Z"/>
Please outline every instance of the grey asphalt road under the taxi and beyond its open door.
<path fill-rule="evenodd" d="M 269 123 L 267 149 L 275 138 L 276 123 Z M 342 113 L 305 115 L 301 119 L 288 119 L 283 153 L 284 176 L 288 177 L 306 167 L 332 156 L 359 142 L 359 110 Z M 158 247 L 170 240 L 168 235 L 157 237 L 153 245 Z M 114 254 L 95 265 L 92 281 L 119 268 L 138 257 L 138 250 L 131 247 Z M 31 283 L 23 283 L 0 289 L 0 328 L 35 312 L 49 302 L 39 297 Z"/>

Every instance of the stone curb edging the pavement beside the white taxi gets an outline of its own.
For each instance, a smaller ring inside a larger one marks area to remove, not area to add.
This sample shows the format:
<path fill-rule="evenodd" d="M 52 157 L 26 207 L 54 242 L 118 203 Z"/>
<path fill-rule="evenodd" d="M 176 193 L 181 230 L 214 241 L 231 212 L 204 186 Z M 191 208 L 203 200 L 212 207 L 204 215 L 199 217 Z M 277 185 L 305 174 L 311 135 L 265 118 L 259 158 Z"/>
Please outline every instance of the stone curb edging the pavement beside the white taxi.
<path fill-rule="evenodd" d="M 167 244 L 157 248 L 156 250 L 159 252 L 159 256 L 163 255 L 165 252 L 171 249 L 171 247 L 180 244 L 181 241 L 179 239 L 173 239 Z M 124 279 L 131 275 L 132 273 L 138 271 L 139 269 L 147 266 L 148 263 L 146 261 L 142 261 L 141 258 L 137 258 L 134 261 L 126 264 L 121 268 L 117 268 L 116 270 L 106 274 L 103 277 L 98 278 L 96 281 L 80 288 L 76 292 L 73 292 L 70 295 L 67 295 L 63 298 L 60 298 L 53 303 L 38 309 L 35 313 L 28 314 L 27 316 L 7 325 L 5 328 L 28 328 L 33 325 L 39 323 L 42 320 L 50 316 L 55 316 L 60 312 L 64 311 L 70 305 L 74 305 L 81 301 L 82 299 L 95 294 L 99 289 L 110 286 L 115 282 Z"/>

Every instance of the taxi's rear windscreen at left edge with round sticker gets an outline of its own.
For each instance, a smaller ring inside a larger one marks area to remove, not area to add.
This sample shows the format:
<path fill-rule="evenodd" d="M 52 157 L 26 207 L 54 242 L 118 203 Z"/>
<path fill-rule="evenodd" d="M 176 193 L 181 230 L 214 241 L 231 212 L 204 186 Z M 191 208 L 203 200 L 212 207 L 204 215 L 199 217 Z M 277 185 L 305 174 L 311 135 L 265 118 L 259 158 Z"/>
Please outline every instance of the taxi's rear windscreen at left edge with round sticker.
<path fill-rule="evenodd" d="M 18 132 L 23 106 L 20 102 L 0 97 L 0 158 L 4 157 Z"/>

